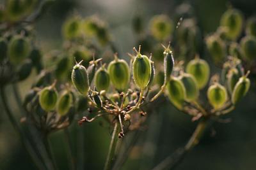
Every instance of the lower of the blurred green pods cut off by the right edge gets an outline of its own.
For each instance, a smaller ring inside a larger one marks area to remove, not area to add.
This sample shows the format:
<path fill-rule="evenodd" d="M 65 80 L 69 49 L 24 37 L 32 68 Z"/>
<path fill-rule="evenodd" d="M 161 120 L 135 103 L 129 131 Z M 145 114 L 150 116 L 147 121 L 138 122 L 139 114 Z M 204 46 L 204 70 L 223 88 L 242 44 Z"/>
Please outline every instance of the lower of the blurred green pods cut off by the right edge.
<path fill-rule="evenodd" d="M 256 58 L 256 38 L 253 36 L 245 36 L 241 40 L 241 48 L 243 57 L 248 60 Z"/>

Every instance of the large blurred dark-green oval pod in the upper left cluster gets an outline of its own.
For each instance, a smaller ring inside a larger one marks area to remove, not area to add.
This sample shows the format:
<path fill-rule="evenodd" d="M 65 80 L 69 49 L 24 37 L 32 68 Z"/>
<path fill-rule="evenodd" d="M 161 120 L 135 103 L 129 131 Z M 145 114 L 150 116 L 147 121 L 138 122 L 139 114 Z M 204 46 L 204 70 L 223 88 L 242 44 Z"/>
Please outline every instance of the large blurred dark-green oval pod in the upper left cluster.
<path fill-rule="evenodd" d="M 8 57 L 12 64 L 20 64 L 24 59 L 29 56 L 31 46 L 28 39 L 22 36 L 13 36 L 8 43 Z"/>

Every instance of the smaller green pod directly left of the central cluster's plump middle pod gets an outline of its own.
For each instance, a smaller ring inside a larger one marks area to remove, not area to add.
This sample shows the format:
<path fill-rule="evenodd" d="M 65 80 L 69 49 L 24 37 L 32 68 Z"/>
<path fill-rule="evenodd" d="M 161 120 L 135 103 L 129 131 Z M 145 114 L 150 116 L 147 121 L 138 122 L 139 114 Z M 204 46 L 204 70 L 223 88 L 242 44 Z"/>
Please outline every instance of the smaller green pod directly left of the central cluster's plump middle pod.
<path fill-rule="evenodd" d="M 109 83 L 110 83 L 110 79 L 109 79 L 108 71 L 106 71 L 105 67 L 102 66 L 95 73 L 95 80 L 94 80 L 95 87 L 99 92 L 101 90 L 108 91 Z"/>

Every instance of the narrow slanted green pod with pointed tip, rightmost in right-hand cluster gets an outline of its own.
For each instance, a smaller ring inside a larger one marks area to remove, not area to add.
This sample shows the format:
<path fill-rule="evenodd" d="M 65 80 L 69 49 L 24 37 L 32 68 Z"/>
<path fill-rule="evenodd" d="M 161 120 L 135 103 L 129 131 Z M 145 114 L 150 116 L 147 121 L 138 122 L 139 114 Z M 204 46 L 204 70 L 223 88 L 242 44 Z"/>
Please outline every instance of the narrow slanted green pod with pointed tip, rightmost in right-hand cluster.
<path fill-rule="evenodd" d="M 246 76 L 242 76 L 236 83 L 232 93 L 232 103 L 237 104 L 248 92 L 250 88 L 250 80 Z"/>

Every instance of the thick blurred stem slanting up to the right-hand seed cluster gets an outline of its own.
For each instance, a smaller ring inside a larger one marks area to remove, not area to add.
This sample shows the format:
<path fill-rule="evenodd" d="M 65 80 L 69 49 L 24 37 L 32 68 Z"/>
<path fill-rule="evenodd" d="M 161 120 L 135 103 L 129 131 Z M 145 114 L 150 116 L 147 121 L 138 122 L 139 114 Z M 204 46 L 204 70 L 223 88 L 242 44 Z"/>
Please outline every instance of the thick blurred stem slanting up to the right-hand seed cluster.
<path fill-rule="evenodd" d="M 204 131 L 209 123 L 209 118 L 204 118 L 201 122 L 198 123 L 196 126 L 195 131 L 193 132 L 191 138 L 189 139 L 188 143 L 183 148 L 178 148 L 173 152 L 171 155 L 166 157 L 160 164 L 154 167 L 152 170 L 161 170 L 166 169 L 175 169 L 177 165 L 184 159 L 186 153 L 192 150 L 202 138 Z"/>

